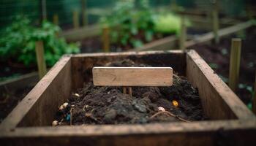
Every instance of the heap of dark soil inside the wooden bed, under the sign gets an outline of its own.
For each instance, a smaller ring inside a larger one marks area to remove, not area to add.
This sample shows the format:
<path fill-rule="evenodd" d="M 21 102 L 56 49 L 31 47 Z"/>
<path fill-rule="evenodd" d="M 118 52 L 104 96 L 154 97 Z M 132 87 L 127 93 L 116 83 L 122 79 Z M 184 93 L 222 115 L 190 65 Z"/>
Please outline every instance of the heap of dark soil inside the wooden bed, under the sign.
<path fill-rule="evenodd" d="M 136 65 L 130 60 L 106 64 L 106 66 Z M 78 89 L 64 110 L 56 112 L 60 125 L 155 123 L 184 120 L 206 120 L 198 92 L 184 77 L 173 76 L 170 87 L 133 87 L 132 96 L 122 93 L 121 87 L 97 87 L 92 82 Z M 178 101 L 178 107 L 173 105 Z M 159 113 L 165 108 L 175 116 Z M 70 112 L 72 109 L 72 113 Z M 181 120 L 180 120 L 181 119 Z"/>

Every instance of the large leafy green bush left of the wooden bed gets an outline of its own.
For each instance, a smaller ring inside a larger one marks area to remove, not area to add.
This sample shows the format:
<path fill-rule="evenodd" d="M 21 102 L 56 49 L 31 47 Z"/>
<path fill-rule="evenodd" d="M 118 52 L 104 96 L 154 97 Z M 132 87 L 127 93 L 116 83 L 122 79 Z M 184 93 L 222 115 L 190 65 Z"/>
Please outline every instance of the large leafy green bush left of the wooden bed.
<path fill-rule="evenodd" d="M 67 44 L 63 38 L 56 37 L 59 26 L 48 21 L 42 27 L 31 25 L 28 18 L 18 16 L 14 23 L 8 26 L 0 38 L 1 61 L 22 63 L 34 66 L 37 62 L 35 42 L 42 40 L 45 48 L 45 61 L 48 66 L 53 66 L 65 53 L 78 53 L 78 44 Z"/>

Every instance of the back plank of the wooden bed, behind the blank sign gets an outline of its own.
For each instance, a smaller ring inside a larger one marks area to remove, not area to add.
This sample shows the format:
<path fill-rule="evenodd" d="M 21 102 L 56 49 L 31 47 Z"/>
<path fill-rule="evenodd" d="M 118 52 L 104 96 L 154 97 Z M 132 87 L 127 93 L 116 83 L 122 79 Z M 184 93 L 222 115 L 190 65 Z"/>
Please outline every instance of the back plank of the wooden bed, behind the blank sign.
<path fill-rule="evenodd" d="M 72 57 L 73 90 L 83 87 L 83 82 L 91 78 L 89 72 L 94 66 L 105 66 L 111 61 L 130 59 L 137 64 L 151 64 L 152 66 L 172 66 L 173 70 L 181 75 L 186 75 L 186 56 L 181 50 L 172 51 L 147 51 L 125 53 L 88 53 Z M 159 65 L 162 64 L 162 65 Z"/>

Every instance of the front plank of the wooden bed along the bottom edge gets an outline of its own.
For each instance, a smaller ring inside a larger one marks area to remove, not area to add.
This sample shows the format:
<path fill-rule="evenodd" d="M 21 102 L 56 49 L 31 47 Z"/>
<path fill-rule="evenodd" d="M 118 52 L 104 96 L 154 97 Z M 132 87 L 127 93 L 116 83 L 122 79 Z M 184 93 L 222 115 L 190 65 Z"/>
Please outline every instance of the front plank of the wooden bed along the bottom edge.
<path fill-rule="evenodd" d="M 16 128 L 2 145 L 254 145 L 255 120 Z M 232 139 L 232 140 L 230 140 Z"/>

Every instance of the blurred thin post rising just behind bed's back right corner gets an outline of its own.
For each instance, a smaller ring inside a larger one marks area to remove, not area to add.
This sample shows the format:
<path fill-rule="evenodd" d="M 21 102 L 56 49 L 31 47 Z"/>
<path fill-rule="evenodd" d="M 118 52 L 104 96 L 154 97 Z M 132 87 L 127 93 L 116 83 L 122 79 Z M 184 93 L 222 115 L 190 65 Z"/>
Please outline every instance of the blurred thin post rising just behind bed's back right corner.
<path fill-rule="evenodd" d="M 185 42 L 187 39 L 187 27 L 185 22 L 185 16 L 181 15 L 181 34 L 179 36 L 179 49 L 185 50 Z"/>

